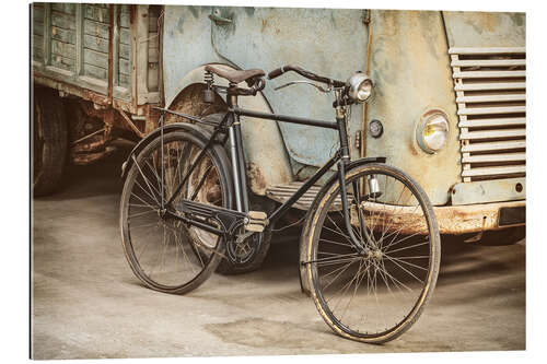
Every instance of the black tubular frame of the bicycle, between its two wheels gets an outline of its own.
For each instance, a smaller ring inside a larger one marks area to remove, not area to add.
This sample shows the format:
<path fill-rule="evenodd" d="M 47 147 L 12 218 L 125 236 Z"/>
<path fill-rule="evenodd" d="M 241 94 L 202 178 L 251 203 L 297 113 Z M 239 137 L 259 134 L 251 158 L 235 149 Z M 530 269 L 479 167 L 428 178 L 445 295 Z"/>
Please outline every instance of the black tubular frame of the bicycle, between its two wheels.
<path fill-rule="evenodd" d="M 276 121 L 282 121 L 282 122 L 290 122 L 290 124 L 299 124 L 299 125 L 305 125 L 305 126 L 311 126 L 311 127 L 318 127 L 318 128 L 328 128 L 328 129 L 334 129 L 338 130 L 339 139 L 340 139 L 340 149 L 330 157 L 330 160 L 325 163 L 323 167 L 321 167 L 309 180 L 306 180 L 295 192 L 292 195 L 286 202 L 283 202 L 279 208 L 277 208 L 269 216 L 268 221 L 275 222 L 279 218 L 281 218 L 317 180 L 321 179 L 335 164 L 338 164 L 338 177 L 340 181 L 340 193 L 341 193 L 341 201 L 342 201 L 342 210 L 344 210 L 344 220 L 346 223 L 346 228 L 348 231 L 348 235 L 351 237 L 351 243 L 358 248 L 361 253 L 364 253 L 366 248 L 364 247 L 363 243 L 361 239 L 357 238 L 353 234 L 353 230 L 351 227 L 351 218 L 349 214 L 349 207 L 347 203 L 347 190 L 346 190 L 346 184 L 345 184 L 345 178 L 346 178 L 346 166 L 350 162 L 350 154 L 349 154 L 349 145 L 348 145 L 348 134 L 347 134 L 347 119 L 346 115 L 344 113 L 344 109 L 341 106 L 336 107 L 337 111 L 337 117 L 336 117 L 336 122 L 335 121 L 325 121 L 325 120 L 317 120 L 317 119 L 309 119 L 309 118 L 302 118 L 302 117 L 294 117 L 294 116 L 288 116 L 288 115 L 279 115 L 279 114 L 267 114 L 267 113 L 260 113 L 260 111 L 255 111 L 255 110 L 248 110 L 244 108 L 240 108 L 237 106 L 237 95 L 230 94 L 230 89 L 228 90 L 228 114 L 224 116 L 223 120 L 214 127 L 213 133 L 209 140 L 209 142 L 206 144 L 206 148 L 201 150 L 200 154 L 197 156 L 196 161 L 194 162 L 194 166 L 199 164 L 200 160 L 203 157 L 205 153 L 209 148 L 212 146 L 214 143 L 214 140 L 219 133 L 221 133 L 223 130 L 228 128 L 228 138 L 225 137 L 223 139 L 223 142 L 229 141 L 230 144 L 230 154 L 231 154 L 231 162 L 232 162 L 232 172 L 233 172 L 233 177 L 234 177 L 234 189 L 235 189 L 235 197 L 236 197 L 236 210 L 241 213 L 245 213 L 249 211 L 248 208 L 248 195 L 247 195 L 247 183 L 246 183 L 246 174 L 245 174 L 245 157 L 244 157 L 244 152 L 243 152 L 243 138 L 242 138 L 242 131 L 241 131 L 241 122 L 240 122 L 240 116 L 248 116 L 248 117 L 254 117 L 254 118 L 260 118 L 260 119 L 267 119 L 267 120 L 276 120 Z M 188 118 L 190 120 L 198 121 L 198 118 L 196 116 L 190 116 L 182 113 L 176 113 L 168 109 L 160 109 L 162 111 L 162 117 L 163 113 L 170 113 L 174 114 L 184 118 Z M 231 121 L 231 122 L 230 122 Z M 179 186 L 175 189 L 175 192 L 173 196 L 167 200 L 166 207 L 168 208 L 175 197 L 178 195 L 178 192 L 182 190 L 184 184 L 188 179 L 189 175 L 193 173 L 194 168 L 190 167 L 190 169 L 187 172 L 186 176 L 182 179 Z M 356 183 L 358 184 L 358 183 Z M 359 191 L 359 185 L 353 186 L 354 191 Z M 359 195 L 359 193 L 357 193 Z M 359 196 L 356 196 L 357 203 L 359 203 Z M 214 209 L 214 207 L 211 207 Z M 177 219 L 183 220 L 184 222 L 188 224 L 196 225 L 200 228 L 203 228 L 206 231 L 209 231 L 211 233 L 218 234 L 220 231 L 216 227 L 210 226 L 211 228 L 206 228 L 203 226 L 203 222 L 196 221 L 194 222 L 191 219 L 188 218 L 182 218 L 182 216 L 176 216 Z M 363 224 L 362 220 L 360 219 L 360 224 Z M 363 226 L 361 226 L 363 227 Z"/>

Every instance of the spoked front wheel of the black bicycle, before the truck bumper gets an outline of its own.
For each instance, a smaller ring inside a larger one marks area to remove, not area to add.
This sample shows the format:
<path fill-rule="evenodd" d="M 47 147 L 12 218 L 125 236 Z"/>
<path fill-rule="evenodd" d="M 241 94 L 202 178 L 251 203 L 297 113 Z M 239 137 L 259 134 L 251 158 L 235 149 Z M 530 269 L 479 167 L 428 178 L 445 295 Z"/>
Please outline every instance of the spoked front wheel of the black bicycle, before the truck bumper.
<path fill-rule="evenodd" d="M 368 253 L 350 243 L 334 181 L 312 207 L 301 261 L 325 322 L 345 338 L 382 343 L 408 330 L 431 297 L 439 228 L 427 195 L 395 167 L 358 165 L 345 184 L 351 228 Z"/>

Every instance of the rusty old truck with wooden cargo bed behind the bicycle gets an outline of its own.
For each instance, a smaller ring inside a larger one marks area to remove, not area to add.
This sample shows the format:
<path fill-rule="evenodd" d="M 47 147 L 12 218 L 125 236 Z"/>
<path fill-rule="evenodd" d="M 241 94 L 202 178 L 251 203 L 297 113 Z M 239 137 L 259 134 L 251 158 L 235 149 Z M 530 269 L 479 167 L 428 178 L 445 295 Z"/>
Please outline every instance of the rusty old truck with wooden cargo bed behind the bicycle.
<path fill-rule="evenodd" d="M 67 163 L 93 163 L 114 141 L 150 133 L 154 106 L 225 110 L 222 95 L 202 102 L 207 64 L 291 63 L 334 79 L 370 74 L 377 97 L 353 110 L 352 155 L 384 155 L 414 176 L 442 234 L 523 236 L 524 13 L 83 3 L 34 3 L 31 13 L 35 195 L 53 191 Z M 242 106 L 330 117 L 313 90 L 277 85 Z M 284 201 L 336 151 L 329 130 L 251 121 L 242 122 L 247 186 L 264 200 Z"/>

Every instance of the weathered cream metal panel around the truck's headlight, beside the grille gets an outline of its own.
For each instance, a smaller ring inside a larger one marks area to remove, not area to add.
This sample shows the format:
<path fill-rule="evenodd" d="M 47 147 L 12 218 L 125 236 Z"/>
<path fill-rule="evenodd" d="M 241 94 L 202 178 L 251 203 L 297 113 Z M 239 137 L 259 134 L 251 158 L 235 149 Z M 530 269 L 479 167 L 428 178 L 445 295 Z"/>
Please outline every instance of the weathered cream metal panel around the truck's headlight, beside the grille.
<path fill-rule="evenodd" d="M 459 181 L 459 142 L 450 57 L 440 12 L 372 10 L 371 77 L 376 94 L 366 122 L 380 120 L 381 138 L 366 134 L 366 155 L 385 155 L 424 188 L 434 204 L 449 202 Z M 422 115 L 441 109 L 449 117 L 447 144 L 428 154 L 416 142 Z M 396 197 L 395 197 L 396 198 Z"/>

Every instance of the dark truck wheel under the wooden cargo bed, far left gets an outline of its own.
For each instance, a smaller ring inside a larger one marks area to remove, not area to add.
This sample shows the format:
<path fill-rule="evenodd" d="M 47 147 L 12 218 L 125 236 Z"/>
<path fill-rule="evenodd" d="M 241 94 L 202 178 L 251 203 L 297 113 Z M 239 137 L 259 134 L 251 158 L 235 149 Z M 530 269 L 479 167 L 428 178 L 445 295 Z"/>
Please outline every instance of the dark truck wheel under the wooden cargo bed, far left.
<path fill-rule="evenodd" d="M 36 90 L 33 118 L 33 193 L 51 193 L 67 158 L 67 120 L 62 102 L 53 92 Z"/>

